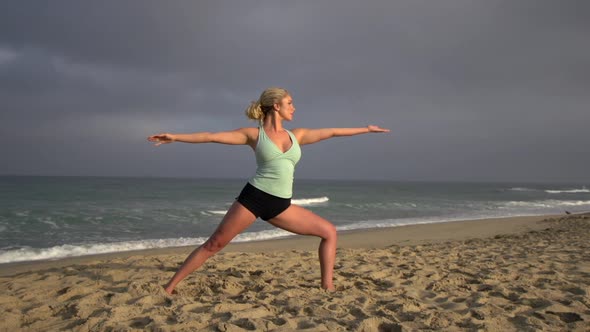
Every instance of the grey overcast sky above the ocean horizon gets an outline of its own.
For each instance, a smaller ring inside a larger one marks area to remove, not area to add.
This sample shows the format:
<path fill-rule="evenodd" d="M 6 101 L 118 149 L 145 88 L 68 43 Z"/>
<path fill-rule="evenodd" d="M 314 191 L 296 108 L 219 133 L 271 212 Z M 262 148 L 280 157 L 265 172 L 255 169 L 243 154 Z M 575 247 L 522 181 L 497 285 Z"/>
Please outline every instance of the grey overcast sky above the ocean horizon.
<path fill-rule="evenodd" d="M 245 146 L 159 132 L 389 134 L 306 146 L 298 178 L 590 183 L 590 2 L 2 1 L 0 174 L 247 178 Z"/>

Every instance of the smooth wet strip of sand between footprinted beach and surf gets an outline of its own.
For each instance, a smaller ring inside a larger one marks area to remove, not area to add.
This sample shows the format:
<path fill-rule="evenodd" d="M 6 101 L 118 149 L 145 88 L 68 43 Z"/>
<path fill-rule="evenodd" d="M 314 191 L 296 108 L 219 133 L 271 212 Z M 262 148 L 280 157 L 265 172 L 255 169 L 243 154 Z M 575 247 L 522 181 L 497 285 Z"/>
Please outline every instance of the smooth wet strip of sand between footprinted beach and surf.
<path fill-rule="evenodd" d="M 379 248 L 388 245 L 416 245 L 441 241 L 463 240 L 467 238 L 490 237 L 498 234 L 513 234 L 519 231 L 541 229 L 538 223 L 561 215 L 534 215 L 518 217 L 498 217 L 468 219 L 458 221 L 410 224 L 380 228 L 354 229 L 338 232 L 338 248 Z M 504 228 L 500 229 L 500 225 Z M 371 237 L 367 243 L 366 238 Z M 223 252 L 264 252 L 285 250 L 316 250 L 318 238 L 292 235 L 277 239 L 235 242 L 228 244 Z M 0 264 L 0 277 L 15 273 L 35 271 L 45 268 L 64 267 L 73 264 L 87 264 L 97 260 L 128 258 L 132 256 L 188 255 L 197 246 L 150 248 L 110 252 L 57 259 L 9 262 Z"/>

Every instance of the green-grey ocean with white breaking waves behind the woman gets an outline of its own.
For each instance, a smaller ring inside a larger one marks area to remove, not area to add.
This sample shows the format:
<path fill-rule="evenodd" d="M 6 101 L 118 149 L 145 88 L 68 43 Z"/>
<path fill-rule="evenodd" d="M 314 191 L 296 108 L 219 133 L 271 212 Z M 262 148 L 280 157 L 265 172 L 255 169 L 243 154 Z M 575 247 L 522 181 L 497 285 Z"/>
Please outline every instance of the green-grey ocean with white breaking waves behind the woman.
<path fill-rule="evenodd" d="M 198 245 L 246 179 L 0 176 L 0 263 Z M 339 230 L 590 211 L 588 185 L 296 180 Z M 289 236 L 257 220 L 234 239 Z"/>

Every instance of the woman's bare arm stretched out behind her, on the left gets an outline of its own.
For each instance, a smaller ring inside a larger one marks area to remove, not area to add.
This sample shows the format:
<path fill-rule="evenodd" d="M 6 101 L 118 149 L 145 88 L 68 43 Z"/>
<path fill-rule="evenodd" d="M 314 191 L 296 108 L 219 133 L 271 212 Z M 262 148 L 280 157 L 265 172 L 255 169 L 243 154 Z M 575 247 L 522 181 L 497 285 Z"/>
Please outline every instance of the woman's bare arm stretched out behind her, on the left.
<path fill-rule="evenodd" d="M 239 128 L 232 131 L 216 133 L 200 132 L 192 134 L 162 133 L 148 137 L 148 141 L 156 142 L 154 145 L 168 144 L 172 142 L 184 143 L 221 143 L 232 145 L 252 144 L 256 128 Z"/>

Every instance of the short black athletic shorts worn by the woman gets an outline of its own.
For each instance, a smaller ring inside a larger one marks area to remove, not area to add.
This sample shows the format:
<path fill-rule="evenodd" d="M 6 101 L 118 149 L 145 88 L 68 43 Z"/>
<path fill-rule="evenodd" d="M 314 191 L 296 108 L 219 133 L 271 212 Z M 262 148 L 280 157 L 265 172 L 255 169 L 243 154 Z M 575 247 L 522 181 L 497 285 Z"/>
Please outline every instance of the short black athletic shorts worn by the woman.
<path fill-rule="evenodd" d="M 254 187 L 249 182 L 236 198 L 240 204 L 250 210 L 257 218 L 268 221 L 291 205 L 290 198 L 281 198 Z"/>

